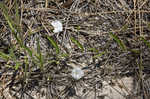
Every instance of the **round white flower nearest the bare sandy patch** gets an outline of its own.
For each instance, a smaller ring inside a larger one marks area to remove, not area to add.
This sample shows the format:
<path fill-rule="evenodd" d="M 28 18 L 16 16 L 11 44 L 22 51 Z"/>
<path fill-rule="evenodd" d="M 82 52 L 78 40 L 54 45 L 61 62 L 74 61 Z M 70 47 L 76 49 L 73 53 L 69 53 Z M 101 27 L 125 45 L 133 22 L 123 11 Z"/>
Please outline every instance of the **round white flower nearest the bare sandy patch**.
<path fill-rule="evenodd" d="M 74 69 L 72 70 L 71 75 L 74 79 L 79 80 L 80 78 L 82 78 L 84 76 L 84 72 L 81 68 L 74 67 Z"/>

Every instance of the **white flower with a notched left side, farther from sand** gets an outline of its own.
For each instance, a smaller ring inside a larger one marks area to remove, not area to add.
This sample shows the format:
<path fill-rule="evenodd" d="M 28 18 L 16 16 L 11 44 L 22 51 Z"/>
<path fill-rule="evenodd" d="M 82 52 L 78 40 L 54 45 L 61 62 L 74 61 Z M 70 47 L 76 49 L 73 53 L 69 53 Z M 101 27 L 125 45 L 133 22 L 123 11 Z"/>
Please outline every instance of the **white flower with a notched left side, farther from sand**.
<path fill-rule="evenodd" d="M 63 25 L 58 20 L 52 21 L 51 25 L 54 27 L 54 30 L 53 30 L 54 33 L 58 33 L 63 30 Z"/>

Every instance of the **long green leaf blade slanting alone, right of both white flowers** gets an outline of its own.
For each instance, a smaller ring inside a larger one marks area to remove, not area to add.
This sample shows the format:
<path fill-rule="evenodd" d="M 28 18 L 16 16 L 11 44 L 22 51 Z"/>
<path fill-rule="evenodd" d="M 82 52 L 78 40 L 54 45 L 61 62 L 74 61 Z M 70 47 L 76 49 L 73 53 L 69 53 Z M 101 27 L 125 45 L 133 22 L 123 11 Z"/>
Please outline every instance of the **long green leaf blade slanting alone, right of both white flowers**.
<path fill-rule="evenodd" d="M 109 34 L 110 34 L 110 36 L 117 42 L 117 44 L 120 46 L 120 48 L 121 48 L 123 51 L 126 51 L 126 50 L 127 50 L 125 44 L 124 44 L 115 34 L 113 34 L 112 32 L 110 32 Z"/>

